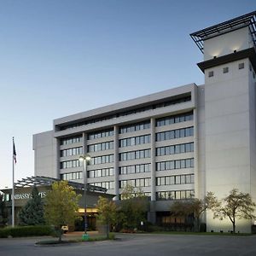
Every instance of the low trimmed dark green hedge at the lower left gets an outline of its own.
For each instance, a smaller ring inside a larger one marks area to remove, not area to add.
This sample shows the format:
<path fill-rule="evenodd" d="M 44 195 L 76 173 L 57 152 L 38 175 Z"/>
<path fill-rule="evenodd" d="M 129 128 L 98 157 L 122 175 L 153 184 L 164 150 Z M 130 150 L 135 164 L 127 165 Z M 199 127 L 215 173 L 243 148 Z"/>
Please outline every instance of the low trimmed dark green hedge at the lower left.
<path fill-rule="evenodd" d="M 15 228 L 0 229 L 0 238 L 21 237 L 21 236 L 50 236 L 52 229 L 50 226 L 23 226 Z"/>

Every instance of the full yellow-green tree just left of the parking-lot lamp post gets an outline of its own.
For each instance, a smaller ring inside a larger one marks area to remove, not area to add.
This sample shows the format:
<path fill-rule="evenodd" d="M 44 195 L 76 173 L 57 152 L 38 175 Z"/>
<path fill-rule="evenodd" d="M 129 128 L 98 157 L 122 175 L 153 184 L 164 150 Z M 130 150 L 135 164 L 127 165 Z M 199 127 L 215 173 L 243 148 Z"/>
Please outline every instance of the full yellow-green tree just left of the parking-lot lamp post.
<path fill-rule="evenodd" d="M 61 241 L 61 226 L 73 224 L 79 208 L 79 198 L 67 181 L 55 182 L 44 198 L 44 218 L 55 226 Z"/>

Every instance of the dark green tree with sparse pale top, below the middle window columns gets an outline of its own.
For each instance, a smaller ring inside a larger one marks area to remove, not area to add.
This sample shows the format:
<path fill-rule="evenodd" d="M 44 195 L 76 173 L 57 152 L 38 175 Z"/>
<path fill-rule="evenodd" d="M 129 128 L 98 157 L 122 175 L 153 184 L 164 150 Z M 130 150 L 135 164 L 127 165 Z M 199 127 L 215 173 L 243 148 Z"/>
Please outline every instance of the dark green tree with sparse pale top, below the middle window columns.
<path fill-rule="evenodd" d="M 148 212 L 148 197 L 142 189 L 128 184 L 123 190 L 122 201 L 119 204 L 119 224 L 125 229 L 136 229 L 141 221 L 146 220 Z"/>

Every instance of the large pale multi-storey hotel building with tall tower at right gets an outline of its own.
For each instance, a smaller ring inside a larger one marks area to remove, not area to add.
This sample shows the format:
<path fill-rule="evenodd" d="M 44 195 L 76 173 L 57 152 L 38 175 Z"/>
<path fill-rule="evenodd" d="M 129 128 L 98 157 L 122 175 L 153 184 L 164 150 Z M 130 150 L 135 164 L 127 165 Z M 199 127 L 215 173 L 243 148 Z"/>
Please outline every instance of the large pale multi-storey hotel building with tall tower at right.
<path fill-rule="evenodd" d="M 205 84 L 186 84 L 53 121 L 35 134 L 35 175 L 87 183 L 121 199 L 131 183 L 150 198 L 148 220 L 170 221 L 175 200 L 218 198 L 237 188 L 256 201 L 256 12 L 190 36 Z M 207 230 L 231 230 L 207 212 Z M 236 230 L 250 232 L 251 220 Z"/>

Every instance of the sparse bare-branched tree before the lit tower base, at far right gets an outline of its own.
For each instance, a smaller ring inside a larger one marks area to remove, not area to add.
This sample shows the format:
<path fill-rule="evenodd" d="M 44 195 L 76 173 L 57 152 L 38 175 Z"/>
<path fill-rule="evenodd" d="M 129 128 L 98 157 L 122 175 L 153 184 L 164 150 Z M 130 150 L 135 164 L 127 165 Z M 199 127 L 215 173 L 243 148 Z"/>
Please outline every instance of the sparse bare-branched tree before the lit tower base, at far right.
<path fill-rule="evenodd" d="M 213 209 L 213 218 L 229 218 L 233 226 L 233 233 L 236 233 L 236 219 L 256 218 L 253 215 L 256 204 L 253 202 L 251 195 L 242 193 L 238 189 L 232 189 L 230 195 L 223 199 L 223 206 L 219 205 Z"/>

